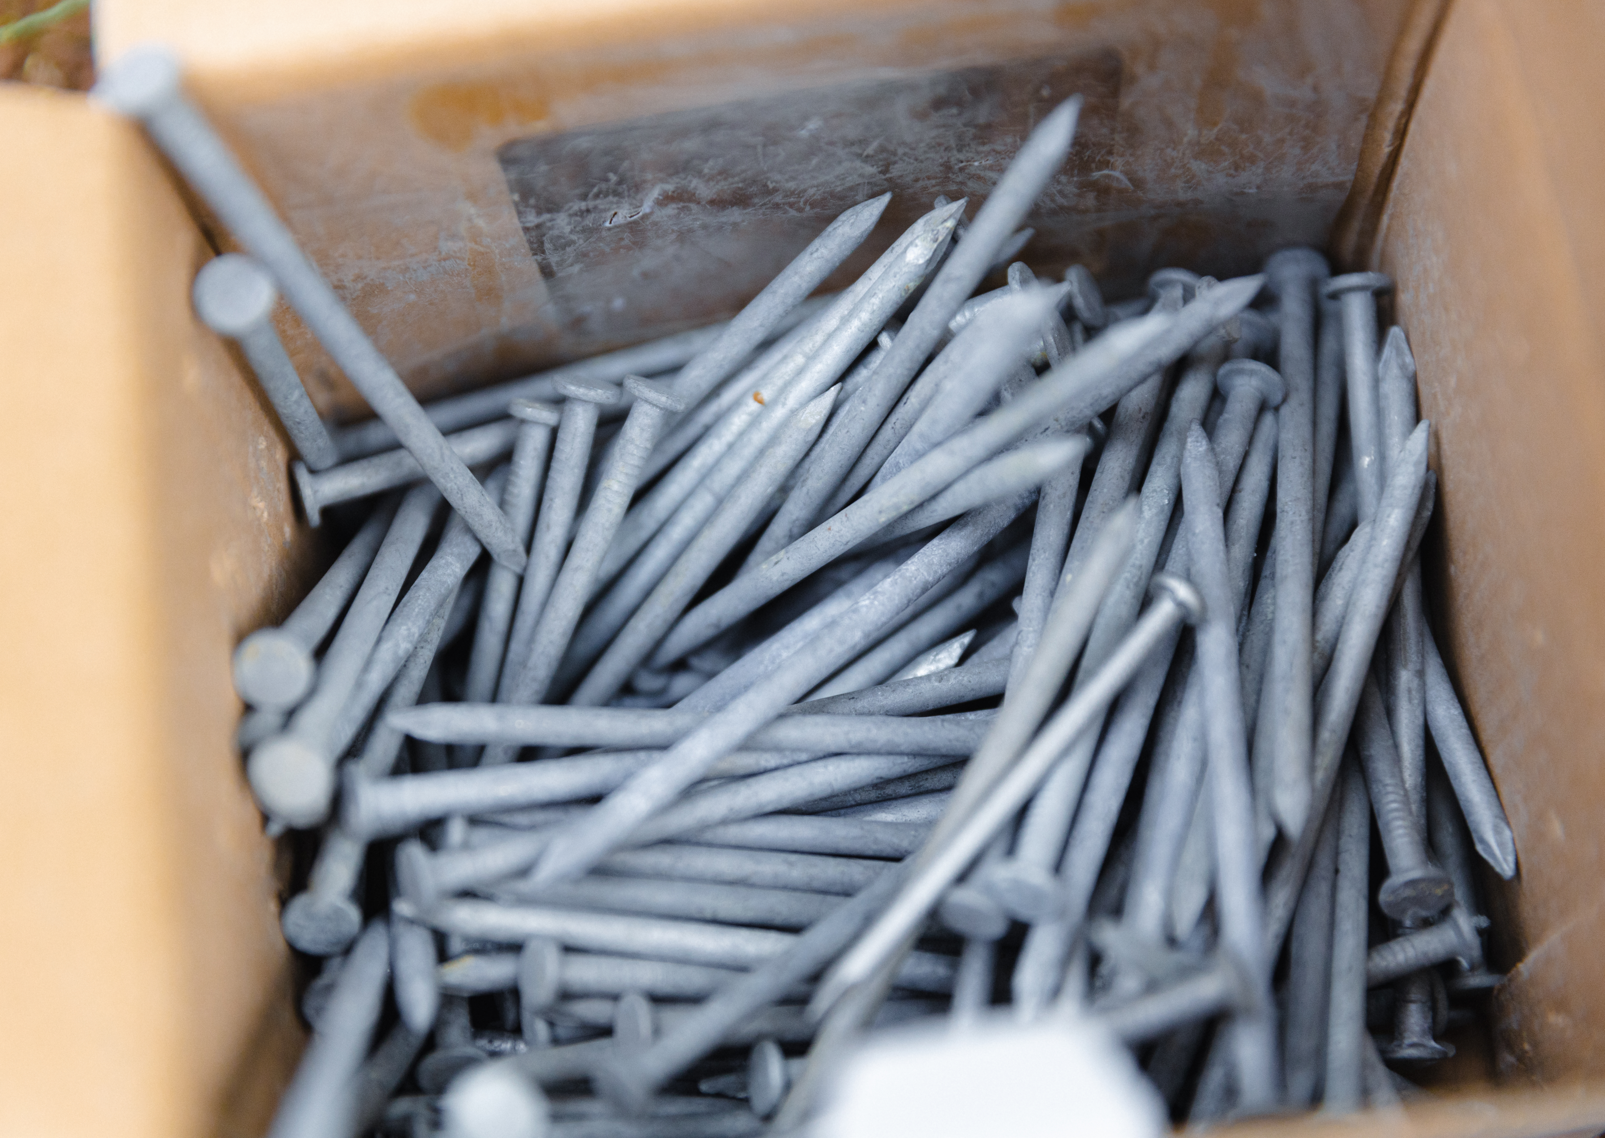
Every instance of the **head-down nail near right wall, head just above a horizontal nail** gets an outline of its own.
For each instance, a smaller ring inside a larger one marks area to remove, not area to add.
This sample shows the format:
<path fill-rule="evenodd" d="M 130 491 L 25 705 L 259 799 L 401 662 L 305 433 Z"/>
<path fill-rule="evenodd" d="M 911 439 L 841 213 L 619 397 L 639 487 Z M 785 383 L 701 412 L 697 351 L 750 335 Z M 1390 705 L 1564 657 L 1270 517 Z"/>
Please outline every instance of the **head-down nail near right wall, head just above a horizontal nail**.
<path fill-rule="evenodd" d="M 1427 859 L 1425 835 L 1416 825 L 1387 709 L 1372 677 L 1366 679 L 1359 697 L 1355 742 L 1388 860 L 1388 878 L 1377 894 L 1377 905 L 1401 921 L 1436 916 L 1454 900 L 1454 884 Z"/>

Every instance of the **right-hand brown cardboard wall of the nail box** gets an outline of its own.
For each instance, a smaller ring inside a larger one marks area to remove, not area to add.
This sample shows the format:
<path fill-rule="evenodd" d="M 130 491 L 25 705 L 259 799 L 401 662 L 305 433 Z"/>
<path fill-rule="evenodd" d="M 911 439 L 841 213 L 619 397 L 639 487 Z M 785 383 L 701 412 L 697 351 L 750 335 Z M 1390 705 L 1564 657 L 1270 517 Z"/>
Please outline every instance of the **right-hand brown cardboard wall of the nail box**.
<path fill-rule="evenodd" d="M 1599 5 L 1457 0 L 1377 254 L 1436 430 L 1444 653 L 1520 857 L 1499 1064 L 1546 1082 L 1605 1064 L 1602 32 Z"/>

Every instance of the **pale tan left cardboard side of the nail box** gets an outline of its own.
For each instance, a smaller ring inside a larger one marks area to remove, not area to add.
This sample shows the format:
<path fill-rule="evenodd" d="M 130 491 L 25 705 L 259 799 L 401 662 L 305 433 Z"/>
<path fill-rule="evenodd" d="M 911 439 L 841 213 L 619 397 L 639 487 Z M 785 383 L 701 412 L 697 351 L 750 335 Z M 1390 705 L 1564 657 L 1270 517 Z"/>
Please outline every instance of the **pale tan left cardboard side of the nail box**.
<path fill-rule="evenodd" d="M 228 656 L 307 584 L 286 445 L 138 133 L 19 87 L 0 122 L 0 1133 L 254 1133 L 300 1029 Z"/>

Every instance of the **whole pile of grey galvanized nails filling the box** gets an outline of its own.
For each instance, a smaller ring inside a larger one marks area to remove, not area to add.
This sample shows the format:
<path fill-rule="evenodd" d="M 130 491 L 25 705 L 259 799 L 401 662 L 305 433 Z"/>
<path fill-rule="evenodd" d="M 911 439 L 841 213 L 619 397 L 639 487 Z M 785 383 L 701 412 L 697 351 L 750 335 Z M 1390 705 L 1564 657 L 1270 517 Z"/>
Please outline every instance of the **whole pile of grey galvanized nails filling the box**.
<path fill-rule="evenodd" d="M 1385 278 L 977 292 L 1072 100 L 839 294 L 886 197 L 725 324 L 421 406 L 172 56 L 98 93 L 247 250 L 196 308 L 355 530 L 234 658 L 250 786 L 319 835 L 273 1135 L 790 1132 L 931 1016 L 1099 1024 L 1193 1122 L 1451 1053 L 1497 981 L 1472 851 L 1515 852 L 1425 623 Z M 319 422 L 279 294 L 379 419 Z"/>

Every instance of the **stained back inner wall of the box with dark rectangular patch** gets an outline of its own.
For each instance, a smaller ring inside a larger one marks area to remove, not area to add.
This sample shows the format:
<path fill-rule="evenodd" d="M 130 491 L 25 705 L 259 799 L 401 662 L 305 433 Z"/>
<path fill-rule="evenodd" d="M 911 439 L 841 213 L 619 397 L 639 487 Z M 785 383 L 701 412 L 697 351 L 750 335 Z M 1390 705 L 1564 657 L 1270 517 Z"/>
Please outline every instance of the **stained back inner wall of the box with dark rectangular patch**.
<path fill-rule="evenodd" d="M 1074 90 L 1088 106 L 1032 220 L 1038 263 L 1085 260 L 1135 292 L 1162 265 L 1231 273 L 1319 244 L 1409 8 L 109 0 L 96 32 L 108 59 L 149 39 L 180 50 L 379 348 L 441 393 L 732 313 L 833 213 L 889 188 L 884 247 L 934 194 L 984 196 L 1029 125 L 1010 106 L 1029 120 Z M 998 64 L 1008 90 L 974 74 Z M 1018 90 L 1027 72 L 1040 88 Z M 539 151 L 522 185 L 509 144 Z M 361 414 L 284 324 L 319 406 Z"/>

